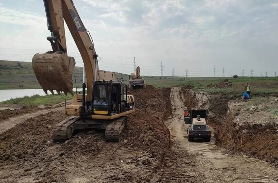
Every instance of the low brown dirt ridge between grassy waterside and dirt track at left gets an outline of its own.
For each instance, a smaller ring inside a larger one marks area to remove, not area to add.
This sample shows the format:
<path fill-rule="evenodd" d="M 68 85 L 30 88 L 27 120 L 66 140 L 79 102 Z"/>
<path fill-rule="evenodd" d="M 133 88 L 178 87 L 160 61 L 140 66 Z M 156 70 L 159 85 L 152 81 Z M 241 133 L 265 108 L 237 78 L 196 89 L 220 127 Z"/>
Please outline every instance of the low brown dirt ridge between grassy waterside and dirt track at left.
<path fill-rule="evenodd" d="M 0 122 L 6 119 L 10 119 L 13 116 L 31 113 L 41 108 L 36 106 L 23 106 L 21 109 L 4 109 L 0 110 Z"/>

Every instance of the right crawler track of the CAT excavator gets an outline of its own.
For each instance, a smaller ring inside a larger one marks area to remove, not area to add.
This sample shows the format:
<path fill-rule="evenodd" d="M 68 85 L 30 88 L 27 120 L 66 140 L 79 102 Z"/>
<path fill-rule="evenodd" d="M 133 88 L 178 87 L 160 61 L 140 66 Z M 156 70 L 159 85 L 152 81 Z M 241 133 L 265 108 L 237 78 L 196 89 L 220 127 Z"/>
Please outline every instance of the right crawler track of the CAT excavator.
<path fill-rule="evenodd" d="M 107 142 L 120 140 L 120 133 L 127 124 L 127 117 L 120 117 L 112 120 L 106 127 L 105 138 Z"/>

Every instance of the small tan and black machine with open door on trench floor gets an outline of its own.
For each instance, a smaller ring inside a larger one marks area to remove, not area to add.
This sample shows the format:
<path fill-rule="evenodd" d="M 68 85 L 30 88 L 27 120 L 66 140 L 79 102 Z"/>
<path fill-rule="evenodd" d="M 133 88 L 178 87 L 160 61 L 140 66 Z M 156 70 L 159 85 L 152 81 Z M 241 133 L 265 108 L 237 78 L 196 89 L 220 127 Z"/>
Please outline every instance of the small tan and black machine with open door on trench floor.
<path fill-rule="evenodd" d="M 204 141 L 211 141 L 211 129 L 207 125 L 208 109 L 184 109 L 184 122 L 187 124 L 188 141 L 195 138 L 203 138 Z"/>

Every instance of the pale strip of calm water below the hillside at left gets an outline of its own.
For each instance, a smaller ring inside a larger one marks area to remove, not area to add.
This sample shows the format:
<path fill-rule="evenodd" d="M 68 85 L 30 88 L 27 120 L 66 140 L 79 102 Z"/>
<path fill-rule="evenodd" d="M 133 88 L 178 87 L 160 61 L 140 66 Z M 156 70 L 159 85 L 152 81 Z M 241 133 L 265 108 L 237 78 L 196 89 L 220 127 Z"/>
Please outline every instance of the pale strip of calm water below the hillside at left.
<path fill-rule="evenodd" d="M 75 88 L 73 91 L 76 91 Z M 82 88 L 77 88 L 77 91 L 82 91 Z M 51 95 L 50 91 L 47 91 Z M 54 93 L 57 92 L 54 90 Z M 1 89 L 0 90 L 0 102 L 9 100 L 11 98 L 32 96 L 32 95 L 41 95 L 44 96 L 45 93 L 43 89 Z"/>

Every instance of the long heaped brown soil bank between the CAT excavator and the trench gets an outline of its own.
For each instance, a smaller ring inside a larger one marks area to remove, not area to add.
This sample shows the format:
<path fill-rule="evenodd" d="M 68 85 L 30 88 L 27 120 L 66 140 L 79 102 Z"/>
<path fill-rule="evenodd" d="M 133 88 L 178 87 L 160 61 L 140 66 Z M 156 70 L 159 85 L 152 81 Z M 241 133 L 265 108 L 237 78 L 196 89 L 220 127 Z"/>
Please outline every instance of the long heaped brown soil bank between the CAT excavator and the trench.
<path fill-rule="evenodd" d="M 128 117 L 125 147 L 139 147 L 160 158 L 167 154 L 172 143 L 164 120 L 172 113 L 170 93 L 171 88 L 156 89 L 149 85 L 129 90 L 135 98 L 136 111 Z"/>

